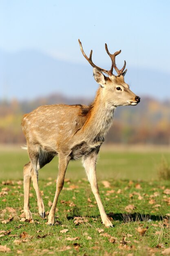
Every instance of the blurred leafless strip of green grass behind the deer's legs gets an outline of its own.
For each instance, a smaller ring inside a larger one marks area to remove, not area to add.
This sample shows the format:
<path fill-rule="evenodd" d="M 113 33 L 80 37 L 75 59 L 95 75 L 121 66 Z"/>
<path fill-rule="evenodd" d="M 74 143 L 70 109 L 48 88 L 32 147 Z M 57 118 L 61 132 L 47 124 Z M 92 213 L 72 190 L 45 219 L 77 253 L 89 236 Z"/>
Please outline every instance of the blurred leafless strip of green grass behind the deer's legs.
<path fill-rule="evenodd" d="M 156 180 L 157 168 L 164 157 L 170 164 L 170 150 L 117 150 L 113 147 L 101 147 L 97 161 L 98 180 L 103 179 L 129 179 L 129 180 Z M 26 150 L 0 148 L 0 178 L 21 179 L 23 166 L 29 162 Z M 58 158 L 54 159 L 39 171 L 40 179 L 57 177 Z M 86 177 L 81 161 L 70 161 L 66 171 L 66 177 L 79 179 Z"/>

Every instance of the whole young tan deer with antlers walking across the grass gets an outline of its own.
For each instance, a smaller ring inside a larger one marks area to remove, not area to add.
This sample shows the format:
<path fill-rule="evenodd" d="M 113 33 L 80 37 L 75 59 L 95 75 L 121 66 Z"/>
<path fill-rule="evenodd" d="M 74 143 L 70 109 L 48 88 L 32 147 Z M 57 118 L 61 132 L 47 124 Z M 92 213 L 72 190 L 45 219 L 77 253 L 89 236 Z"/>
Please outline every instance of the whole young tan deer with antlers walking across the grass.
<path fill-rule="evenodd" d="M 99 84 L 94 101 L 89 105 L 45 105 L 39 106 L 22 118 L 22 130 L 26 137 L 29 163 L 24 165 L 24 213 L 26 219 L 32 219 L 29 208 L 29 190 L 31 179 L 38 200 L 38 211 L 45 218 L 45 209 L 38 185 L 38 171 L 53 157 L 59 157 L 56 191 L 48 216 L 48 225 L 55 225 L 55 209 L 64 185 L 64 176 L 70 160 L 82 159 L 88 181 L 95 196 L 102 223 L 113 227 L 107 216 L 96 178 L 96 162 L 100 146 L 104 142 L 117 106 L 135 106 L 140 97 L 129 89 L 124 76 L 127 72 L 126 61 L 121 70 L 115 63 L 115 57 L 121 50 L 110 54 L 107 44 L 105 49 L 111 59 L 110 70 L 96 66 L 90 56 L 84 53 L 82 43 L 79 46 L 83 56 L 93 67 L 95 81 Z M 113 74 L 113 68 L 117 75 Z M 124 71 L 125 70 L 125 71 Z"/>

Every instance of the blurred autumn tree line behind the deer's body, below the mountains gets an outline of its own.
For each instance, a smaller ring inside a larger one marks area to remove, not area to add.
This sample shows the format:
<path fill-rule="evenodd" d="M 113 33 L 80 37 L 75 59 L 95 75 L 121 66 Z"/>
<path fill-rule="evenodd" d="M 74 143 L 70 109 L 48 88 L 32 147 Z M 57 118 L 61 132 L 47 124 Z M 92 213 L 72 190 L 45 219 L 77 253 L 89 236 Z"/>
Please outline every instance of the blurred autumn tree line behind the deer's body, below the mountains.
<path fill-rule="evenodd" d="M 0 101 L 0 143 L 24 144 L 22 115 L 40 105 L 88 104 L 87 99 L 69 99 L 60 94 L 33 101 Z M 106 143 L 170 144 L 170 101 L 142 98 L 137 106 L 118 107 Z"/>

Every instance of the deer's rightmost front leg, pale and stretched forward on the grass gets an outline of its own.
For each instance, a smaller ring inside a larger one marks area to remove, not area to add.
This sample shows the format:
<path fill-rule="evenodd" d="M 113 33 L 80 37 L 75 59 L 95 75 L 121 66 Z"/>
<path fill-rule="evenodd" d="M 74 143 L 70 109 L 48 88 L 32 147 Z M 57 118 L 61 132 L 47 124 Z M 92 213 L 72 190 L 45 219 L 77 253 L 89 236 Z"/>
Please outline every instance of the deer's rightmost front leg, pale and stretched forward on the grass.
<path fill-rule="evenodd" d="M 88 180 L 91 184 L 91 189 L 95 196 L 95 200 L 99 207 L 99 212 L 102 218 L 102 222 L 106 227 L 113 227 L 112 222 L 109 220 L 108 216 L 106 215 L 106 212 L 104 211 L 102 200 L 99 195 L 99 188 L 98 188 L 97 178 L 96 178 L 96 160 L 97 160 L 97 153 L 93 152 L 87 157 L 84 157 L 82 162 L 86 170 Z"/>

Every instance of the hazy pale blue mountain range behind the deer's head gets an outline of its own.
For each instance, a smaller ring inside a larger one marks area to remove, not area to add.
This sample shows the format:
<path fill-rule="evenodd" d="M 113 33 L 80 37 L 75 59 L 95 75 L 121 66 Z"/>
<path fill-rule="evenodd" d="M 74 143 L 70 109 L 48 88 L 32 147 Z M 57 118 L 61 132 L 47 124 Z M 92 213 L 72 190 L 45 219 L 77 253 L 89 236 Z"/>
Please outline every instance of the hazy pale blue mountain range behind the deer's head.
<path fill-rule="evenodd" d="M 109 60 L 103 67 L 108 65 Z M 126 81 L 137 95 L 170 99 L 170 74 L 129 67 L 128 63 L 127 68 Z M 60 61 L 34 50 L 0 51 L 0 99 L 35 99 L 52 93 L 93 98 L 96 90 L 88 64 Z"/>

